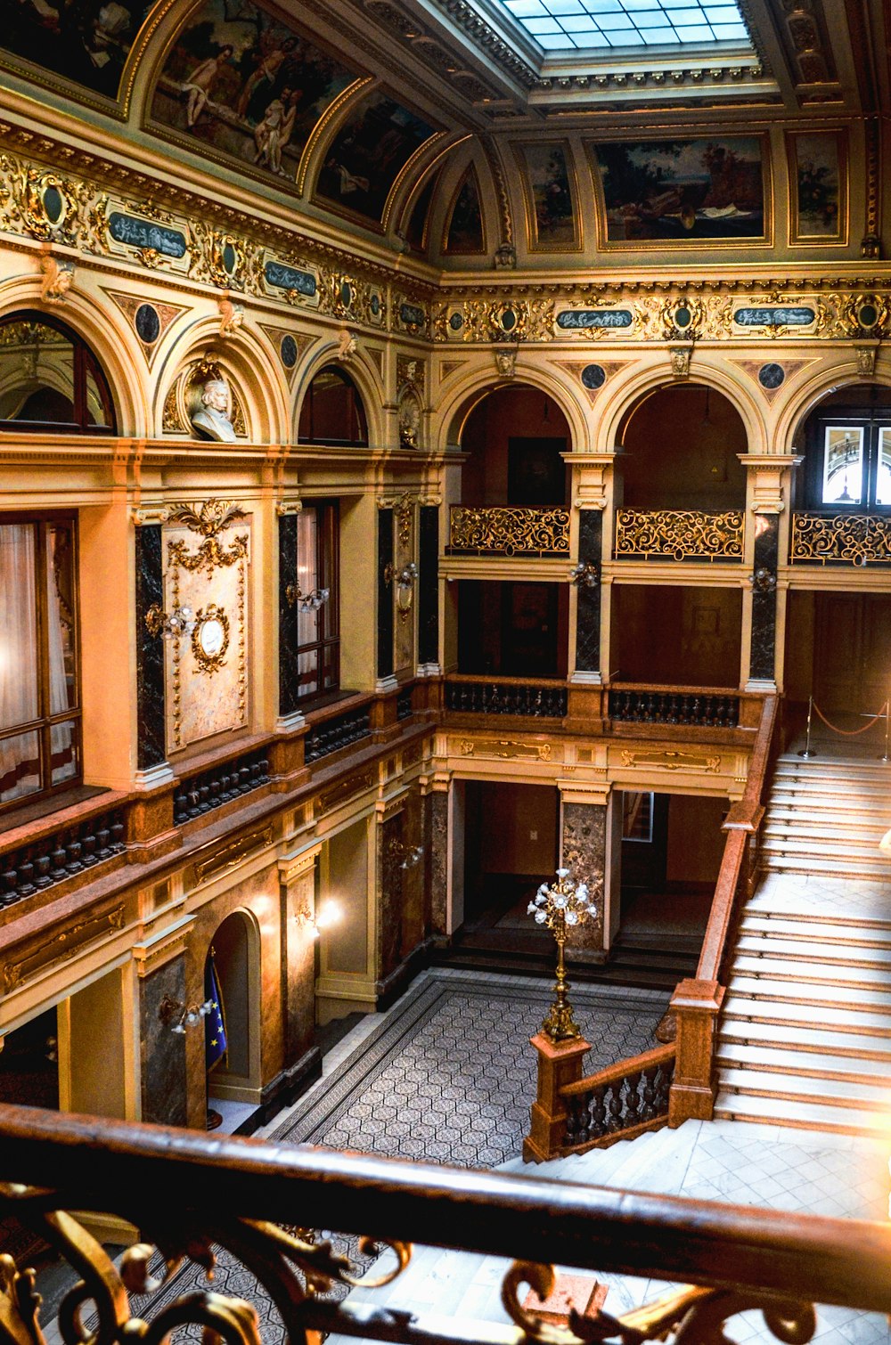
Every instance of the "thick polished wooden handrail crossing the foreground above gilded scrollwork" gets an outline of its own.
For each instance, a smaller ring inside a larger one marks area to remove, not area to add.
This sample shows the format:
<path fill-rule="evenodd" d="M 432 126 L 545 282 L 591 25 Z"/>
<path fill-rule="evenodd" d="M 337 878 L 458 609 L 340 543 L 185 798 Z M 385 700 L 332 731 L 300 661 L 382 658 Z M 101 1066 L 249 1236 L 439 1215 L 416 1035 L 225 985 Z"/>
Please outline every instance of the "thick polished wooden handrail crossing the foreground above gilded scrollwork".
<path fill-rule="evenodd" d="M 140 1228 L 275 1220 L 891 1313 L 891 1225 L 0 1107 L 0 1178 Z M 11 1192 L 3 1212 L 24 1193 Z M 171 1223 L 171 1220 L 174 1223 Z M 386 1336 L 370 1325 L 366 1336 Z M 389 1338 L 401 1336 L 389 1333 Z"/>

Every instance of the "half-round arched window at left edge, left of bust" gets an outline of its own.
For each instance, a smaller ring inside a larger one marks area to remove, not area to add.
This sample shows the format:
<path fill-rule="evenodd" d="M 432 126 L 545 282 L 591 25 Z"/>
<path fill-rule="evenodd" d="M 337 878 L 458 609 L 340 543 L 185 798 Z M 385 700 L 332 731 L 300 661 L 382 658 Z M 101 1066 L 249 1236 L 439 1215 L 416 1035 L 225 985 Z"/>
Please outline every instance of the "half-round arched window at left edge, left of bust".
<path fill-rule="evenodd" d="M 112 394 L 83 340 L 46 313 L 0 320 L 0 430 L 113 434 Z"/>

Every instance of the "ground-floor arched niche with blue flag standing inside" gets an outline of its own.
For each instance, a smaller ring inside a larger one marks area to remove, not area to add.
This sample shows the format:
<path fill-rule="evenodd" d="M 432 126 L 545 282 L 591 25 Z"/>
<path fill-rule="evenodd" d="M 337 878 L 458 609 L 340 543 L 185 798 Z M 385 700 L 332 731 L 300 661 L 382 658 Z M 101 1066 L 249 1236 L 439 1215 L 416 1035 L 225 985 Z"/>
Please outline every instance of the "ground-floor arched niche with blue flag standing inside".
<path fill-rule="evenodd" d="M 244 911 L 234 911 L 214 933 L 205 960 L 211 1003 L 205 1018 L 209 1116 L 217 1112 L 227 1132 L 248 1122 L 260 1102 L 258 994 L 257 931 Z"/>

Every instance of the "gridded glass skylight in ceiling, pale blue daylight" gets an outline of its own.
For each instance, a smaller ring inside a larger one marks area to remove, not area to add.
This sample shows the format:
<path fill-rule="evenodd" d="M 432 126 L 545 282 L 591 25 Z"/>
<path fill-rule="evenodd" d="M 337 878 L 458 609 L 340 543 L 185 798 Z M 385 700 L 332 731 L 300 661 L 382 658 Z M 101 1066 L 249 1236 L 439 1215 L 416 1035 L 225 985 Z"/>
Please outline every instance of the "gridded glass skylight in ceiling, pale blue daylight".
<path fill-rule="evenodd" d="M 736 0 L 502 0 L 545 51 L 751 42 Z"/>

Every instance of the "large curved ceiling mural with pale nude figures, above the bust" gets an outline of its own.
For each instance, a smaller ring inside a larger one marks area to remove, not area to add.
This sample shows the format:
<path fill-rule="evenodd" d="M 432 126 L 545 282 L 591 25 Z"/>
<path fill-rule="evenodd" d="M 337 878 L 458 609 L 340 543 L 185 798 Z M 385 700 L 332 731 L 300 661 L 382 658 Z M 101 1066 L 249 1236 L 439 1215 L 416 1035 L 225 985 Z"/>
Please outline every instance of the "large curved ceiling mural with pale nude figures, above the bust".
<path fill-rule="evenodd" d="M 214 159 L 293 182 L 319 116 L 354 79 L 271 11 L 206 0 L 167 54 L 152 118 Z"/>

